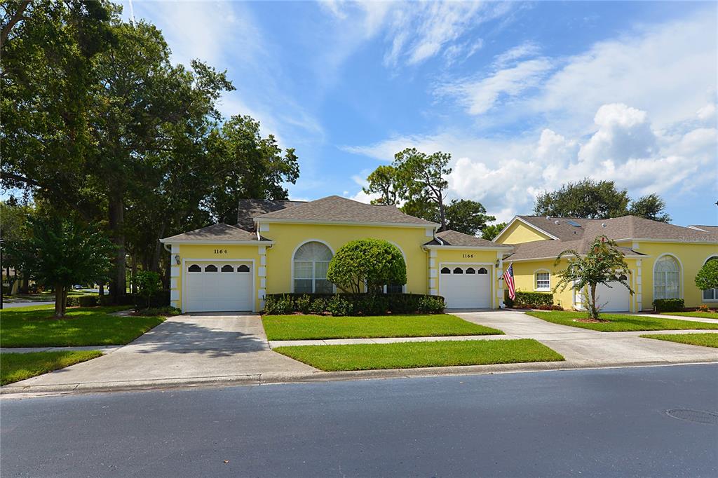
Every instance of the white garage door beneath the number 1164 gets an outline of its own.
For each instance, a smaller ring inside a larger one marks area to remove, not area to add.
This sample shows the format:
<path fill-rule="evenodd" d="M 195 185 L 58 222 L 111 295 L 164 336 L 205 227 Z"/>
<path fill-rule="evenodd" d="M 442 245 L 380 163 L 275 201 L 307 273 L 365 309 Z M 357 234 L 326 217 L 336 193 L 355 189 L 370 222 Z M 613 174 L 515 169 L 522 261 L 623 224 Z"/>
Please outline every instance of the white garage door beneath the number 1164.
<path fill-rule="evenodd" d="M 252 264 L 185 261 L 185 311 L 252 310 Z"/>

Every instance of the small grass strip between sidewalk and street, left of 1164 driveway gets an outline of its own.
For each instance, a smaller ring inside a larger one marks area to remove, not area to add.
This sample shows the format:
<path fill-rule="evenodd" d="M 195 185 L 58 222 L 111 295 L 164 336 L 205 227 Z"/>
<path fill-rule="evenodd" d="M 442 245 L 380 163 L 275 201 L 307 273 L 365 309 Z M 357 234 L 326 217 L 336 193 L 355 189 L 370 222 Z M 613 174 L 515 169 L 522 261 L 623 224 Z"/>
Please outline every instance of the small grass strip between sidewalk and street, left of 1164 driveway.
<path fill-rule="evenodd" d="M 83 350 L 82 352 L 30 352 L 27 354 L 6 353 L 0 355 L 0 385 L 25 380 L 26 378 L 52 372 L 58 368 L 69 367 L 100 357 L 102 352 Z"/>

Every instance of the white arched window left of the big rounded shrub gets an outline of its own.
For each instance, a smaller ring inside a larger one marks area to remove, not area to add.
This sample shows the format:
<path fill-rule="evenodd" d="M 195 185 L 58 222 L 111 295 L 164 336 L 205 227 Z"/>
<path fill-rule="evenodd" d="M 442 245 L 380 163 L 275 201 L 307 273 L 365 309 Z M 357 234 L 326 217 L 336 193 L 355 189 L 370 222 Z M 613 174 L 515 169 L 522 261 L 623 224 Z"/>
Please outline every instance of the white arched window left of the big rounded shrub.
<path fill-rule="evenodd" d="M 331 294 L 334 287 L 327 281 L 327 268 L 332 250 L 318 242 L 302 244 L 294 253 L 294 292 Z"/>

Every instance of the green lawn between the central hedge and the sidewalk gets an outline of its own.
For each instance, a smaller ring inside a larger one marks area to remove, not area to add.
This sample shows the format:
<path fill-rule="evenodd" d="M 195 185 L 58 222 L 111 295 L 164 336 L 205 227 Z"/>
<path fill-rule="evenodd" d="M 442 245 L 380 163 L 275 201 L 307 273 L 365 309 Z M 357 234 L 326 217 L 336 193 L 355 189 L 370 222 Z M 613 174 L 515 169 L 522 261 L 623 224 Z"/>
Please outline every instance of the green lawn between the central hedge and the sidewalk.
<path fill-rule="evenodd" d="M 265 315 L 262 317 L 262 322 L 269 340 L 503 334 L 500 330 L 472 324 L 449 314 L 384 315 L 376 317 Z"/>

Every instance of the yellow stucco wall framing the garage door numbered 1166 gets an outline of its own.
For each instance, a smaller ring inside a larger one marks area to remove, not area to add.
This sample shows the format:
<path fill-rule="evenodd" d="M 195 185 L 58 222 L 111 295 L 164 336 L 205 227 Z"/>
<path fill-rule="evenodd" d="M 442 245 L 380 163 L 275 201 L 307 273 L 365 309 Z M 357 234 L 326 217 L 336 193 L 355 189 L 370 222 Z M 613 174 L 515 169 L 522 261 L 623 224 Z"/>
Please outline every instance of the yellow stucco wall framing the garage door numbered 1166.
<path fill-rule="evenodd" d="M 476 266 L 485 267 L 491 278 L 491 306 L 498 309 L 503 300 L 503 281 L 499 281 L 502 269 L 496 267 L 496 262 L 503 257 L 503 251 L 487 249 L 432 249 L 429 252 L 429 290 L 439 294 L 440 271 L 442 267 Z"/>

